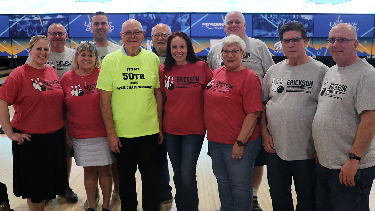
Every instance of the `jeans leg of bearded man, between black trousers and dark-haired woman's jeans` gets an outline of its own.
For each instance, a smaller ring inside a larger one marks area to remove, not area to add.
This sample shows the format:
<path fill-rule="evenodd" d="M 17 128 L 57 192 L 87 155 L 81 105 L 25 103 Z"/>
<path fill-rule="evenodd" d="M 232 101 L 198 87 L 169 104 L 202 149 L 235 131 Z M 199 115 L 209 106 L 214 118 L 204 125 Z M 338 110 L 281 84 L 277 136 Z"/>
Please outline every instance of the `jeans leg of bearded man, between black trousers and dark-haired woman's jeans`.
<path fill-rule="evenodd" d="M 171 193 L 172 187 L 169 185 L 168 158 L 166 157 L 166 144 L 157 145 L 156 154 L 157 180 L 159 183 L 159 197 L 166 198 Z"/>

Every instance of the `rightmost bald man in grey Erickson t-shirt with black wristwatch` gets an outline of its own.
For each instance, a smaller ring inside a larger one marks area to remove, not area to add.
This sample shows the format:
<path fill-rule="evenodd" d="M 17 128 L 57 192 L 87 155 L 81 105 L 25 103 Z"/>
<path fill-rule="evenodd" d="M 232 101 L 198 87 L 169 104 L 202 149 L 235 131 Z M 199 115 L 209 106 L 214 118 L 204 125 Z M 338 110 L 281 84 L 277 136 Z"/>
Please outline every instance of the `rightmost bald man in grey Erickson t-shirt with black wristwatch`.
<path fill-rule="evenodd" d="M 375 68 L 356 54 L 350 24 L 329 32 L 336 65 L 324 76 L 312 136 L 318 153 L 317 210 L 370 210 L 375 178 Z"/>

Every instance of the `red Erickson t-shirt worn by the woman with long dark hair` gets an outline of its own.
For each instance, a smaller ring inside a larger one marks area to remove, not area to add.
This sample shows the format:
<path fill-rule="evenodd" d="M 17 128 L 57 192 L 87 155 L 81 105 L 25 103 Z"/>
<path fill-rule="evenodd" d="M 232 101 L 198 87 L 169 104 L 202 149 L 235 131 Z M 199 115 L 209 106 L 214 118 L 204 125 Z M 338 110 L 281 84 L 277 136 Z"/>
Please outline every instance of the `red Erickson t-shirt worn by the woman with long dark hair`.
<path fill-rule="evenodd" d="M 212 71 L 203 61 L 173 64 L 171 70 L 160 67 L 160 91 L 165 91 L 163 130 L 174 135 L 205 134 L 203 90 Z"/>

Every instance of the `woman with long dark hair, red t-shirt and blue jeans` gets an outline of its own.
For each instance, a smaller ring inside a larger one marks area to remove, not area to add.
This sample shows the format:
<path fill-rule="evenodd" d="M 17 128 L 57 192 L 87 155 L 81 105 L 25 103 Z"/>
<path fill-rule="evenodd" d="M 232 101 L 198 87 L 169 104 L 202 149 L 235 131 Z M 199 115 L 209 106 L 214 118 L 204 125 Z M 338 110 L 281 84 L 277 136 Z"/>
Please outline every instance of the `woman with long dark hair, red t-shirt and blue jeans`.
<path fill-rule="evenodd" d="M 178 211 L 198 210 L 196 163 L 205 127 L 203 90 L 212 78 L 206 61 L 196 57 L 189 37 L 177 31 L 168 38 L 165 63 L 160 67 L 163 92 L 163 131 L 174 171 Z"/>

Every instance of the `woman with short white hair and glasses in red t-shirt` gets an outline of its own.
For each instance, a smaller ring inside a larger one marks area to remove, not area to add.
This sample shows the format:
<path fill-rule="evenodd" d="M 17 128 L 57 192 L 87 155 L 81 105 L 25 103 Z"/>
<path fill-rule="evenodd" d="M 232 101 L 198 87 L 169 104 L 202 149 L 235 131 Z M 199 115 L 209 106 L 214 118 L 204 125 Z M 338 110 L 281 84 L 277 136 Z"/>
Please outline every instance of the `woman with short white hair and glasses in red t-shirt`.
<path fill-rule="evenodd" d="M 257 118 L 263 108 L 260 80 L 242 65 L 245 47 L 237 35 L 223 38 L 225 66 L 213 71 L 204 90 L 204 123 L 220 210 L 253 210 L 252 172 L 261 147 Z"/>

